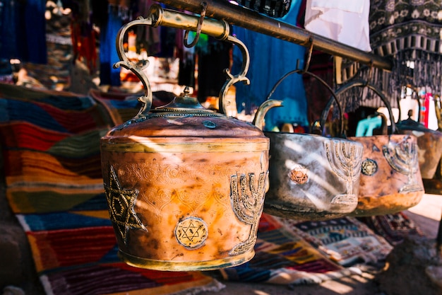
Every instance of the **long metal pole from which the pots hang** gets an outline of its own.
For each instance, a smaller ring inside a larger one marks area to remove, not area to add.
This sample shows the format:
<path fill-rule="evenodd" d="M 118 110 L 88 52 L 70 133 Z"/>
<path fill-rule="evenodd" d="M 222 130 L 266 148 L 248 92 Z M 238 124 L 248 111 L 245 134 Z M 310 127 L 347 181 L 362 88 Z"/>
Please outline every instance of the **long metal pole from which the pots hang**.
<path fill-rule="evenodd" d="M 276 37 L 287 42 L 309 47 L 313 41 L 313 49 L 320 50 L 334 56 L 351 59 L 362 64 L 373 65 L 376 68 L 390 71 L 393 62 L 371 52 L 364 52 L 357 48 L 330 40 L 290 25 L 277 18 L 270 18 L 248 8 L 230 4 L 227 0 L 159 0 L 177 9 L 183 9 L 192 13 L 201 13 L 201 4 L 207 4 L 205 16 L 218 20 L 227 21 L 231 25 L 237 25 L 247 30 Z"/>

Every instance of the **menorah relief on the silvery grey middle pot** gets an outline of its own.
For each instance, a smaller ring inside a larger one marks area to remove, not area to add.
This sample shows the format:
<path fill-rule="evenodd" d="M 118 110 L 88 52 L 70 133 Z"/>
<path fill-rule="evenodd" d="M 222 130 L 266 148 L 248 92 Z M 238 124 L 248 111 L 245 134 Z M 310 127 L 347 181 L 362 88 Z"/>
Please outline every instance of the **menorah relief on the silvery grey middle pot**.
<path fill-rule="evenodd" d="M 362 165 L 361 144 L 351 141 L 330 140 L 324 142 L 325 154 L 333 172 L 345 181 L 345 193 L 335 195 L 331 204 L 357 204 L 353 183 L 359 179 Z"/>

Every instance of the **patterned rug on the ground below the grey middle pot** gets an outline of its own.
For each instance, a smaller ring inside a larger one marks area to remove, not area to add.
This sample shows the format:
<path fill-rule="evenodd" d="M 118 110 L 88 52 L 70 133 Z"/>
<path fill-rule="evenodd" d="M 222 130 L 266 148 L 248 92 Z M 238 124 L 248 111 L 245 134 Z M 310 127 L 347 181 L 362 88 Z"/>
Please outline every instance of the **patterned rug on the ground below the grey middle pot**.
<path fill-rule="evenodd" d="M 270 284 L 319 284 L 362 274 L 357 263 L 385 260 L 392 250 L 365 224 L 343 217 L 294 221 L 263 214 L 255 257 L 221 270 L 225 279 Z"/>

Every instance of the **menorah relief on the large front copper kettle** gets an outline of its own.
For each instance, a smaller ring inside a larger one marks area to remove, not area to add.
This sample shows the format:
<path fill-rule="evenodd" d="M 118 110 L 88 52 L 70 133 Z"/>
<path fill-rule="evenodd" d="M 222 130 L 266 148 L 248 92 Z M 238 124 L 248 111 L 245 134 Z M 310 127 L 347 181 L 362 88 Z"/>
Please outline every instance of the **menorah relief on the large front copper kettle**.
<path fill-rule="evenodd" d="M 250 224 L 250 234 L 246 241 L 239 243 L 232 248 L 229 255 L 239 255 L 246 253 L 253 248 L 256 243 L 256 231 L 258 230 L 258 219 L 263 212 L 265 183 L 268 173 L 260 173 L 258 187 L 255 187 L 255 174 L 249 173 L 249 180 L 246 175 L 230 177 L 230 199 L 232 209 L 237 218 L 245 224 Z M 239 192 L 239 190 L 241 192 Z M 250 195 L 249 195 L 250 193 Z"/>

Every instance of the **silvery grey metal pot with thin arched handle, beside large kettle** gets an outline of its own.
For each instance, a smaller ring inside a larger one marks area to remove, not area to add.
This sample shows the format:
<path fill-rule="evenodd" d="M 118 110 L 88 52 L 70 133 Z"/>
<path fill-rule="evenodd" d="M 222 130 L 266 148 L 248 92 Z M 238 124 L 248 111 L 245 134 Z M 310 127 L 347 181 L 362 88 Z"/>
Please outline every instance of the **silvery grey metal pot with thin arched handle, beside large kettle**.
<path fill-rule="evenodd" d="M 332 93 L 333 90 L 309 71 Z M 339 105 L 338 105 L 339 107 Z M 323 113 L 327 117 L 328 112 Z M 342 112 L 341 131 L 342 131 Z M 323 124 L 325 125 L 325 120 Z M 345 216 L 357 206 L 362 144 L 318 134 L 264 132 L 270 138 L 270 187 L 264 212 L 289 219 L 326 220 Z M 324 134 L 323 134 L 324 135 Z"/>

